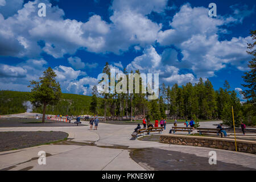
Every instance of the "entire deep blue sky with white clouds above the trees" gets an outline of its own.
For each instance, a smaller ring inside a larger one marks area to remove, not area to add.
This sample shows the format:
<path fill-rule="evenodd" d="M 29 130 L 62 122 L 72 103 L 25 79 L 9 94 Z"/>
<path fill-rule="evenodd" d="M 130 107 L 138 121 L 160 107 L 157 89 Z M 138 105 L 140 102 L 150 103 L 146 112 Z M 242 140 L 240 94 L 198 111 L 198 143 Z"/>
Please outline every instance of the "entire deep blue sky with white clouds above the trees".
<path fill-rule="evenodd" d="M 216 18 L 208 16 L 212 2 Z M 0 0 L 0 89 L 28 91 L 52 67 L 64 93 L 90 95 L 108 61 L 117 72 L 159 73 L 170 86 L 202 77 L 239 91 L 255 8 L 234 0 Z"/>

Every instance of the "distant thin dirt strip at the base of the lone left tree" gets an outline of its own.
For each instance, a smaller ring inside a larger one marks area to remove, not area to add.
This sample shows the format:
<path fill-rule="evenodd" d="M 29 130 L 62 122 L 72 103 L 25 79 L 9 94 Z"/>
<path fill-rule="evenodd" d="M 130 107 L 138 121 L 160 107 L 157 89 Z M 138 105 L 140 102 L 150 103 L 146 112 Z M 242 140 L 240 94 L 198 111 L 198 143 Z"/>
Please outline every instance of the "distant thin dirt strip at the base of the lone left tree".
<path fill-rule="evenodd" d="M 42 123 L 41 119 L 34 118 L 0 118 L 0 127 L 58 127 L 58 126 L 76 126 L 74 123 L 67 122 L 55 122 L 52 120 L 46 119 L 45 123 Z M 81 125 L 79 126 L 86 126 Z"/>

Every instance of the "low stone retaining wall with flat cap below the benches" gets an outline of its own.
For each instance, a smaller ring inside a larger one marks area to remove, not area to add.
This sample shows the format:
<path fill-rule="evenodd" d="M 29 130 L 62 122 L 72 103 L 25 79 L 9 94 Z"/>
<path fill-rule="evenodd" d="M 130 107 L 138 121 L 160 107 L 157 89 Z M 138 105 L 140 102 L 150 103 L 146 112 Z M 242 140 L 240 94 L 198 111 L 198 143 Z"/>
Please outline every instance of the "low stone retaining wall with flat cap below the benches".
<path fill-rule="evenodd" d="M 192 135 L 160 135 L 160 143 L 180 144 L 186 146 L 210 147 L 236 151 L 234 139 L 216 137 L 197 137 Z M 237 151 L 256 154 L 256 142 L 237 140 Z"/>

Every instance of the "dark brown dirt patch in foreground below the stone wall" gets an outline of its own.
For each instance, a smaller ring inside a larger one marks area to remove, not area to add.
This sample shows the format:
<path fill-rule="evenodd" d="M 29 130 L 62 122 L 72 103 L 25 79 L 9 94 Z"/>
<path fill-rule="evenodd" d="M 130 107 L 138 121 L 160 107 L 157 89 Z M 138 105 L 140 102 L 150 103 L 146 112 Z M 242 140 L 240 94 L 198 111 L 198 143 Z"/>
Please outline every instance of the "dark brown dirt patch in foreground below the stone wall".
<path fill-rule="evenodd" d="M 216 165 L 210 165 L 209 158 L 159 148 L 135 149 L 130 152 L 130 157 L 135 162 L 142 163 L 148 169 L 160 171 L 255 171 L 253 168 L 220 161 L 217 161 Z"/>

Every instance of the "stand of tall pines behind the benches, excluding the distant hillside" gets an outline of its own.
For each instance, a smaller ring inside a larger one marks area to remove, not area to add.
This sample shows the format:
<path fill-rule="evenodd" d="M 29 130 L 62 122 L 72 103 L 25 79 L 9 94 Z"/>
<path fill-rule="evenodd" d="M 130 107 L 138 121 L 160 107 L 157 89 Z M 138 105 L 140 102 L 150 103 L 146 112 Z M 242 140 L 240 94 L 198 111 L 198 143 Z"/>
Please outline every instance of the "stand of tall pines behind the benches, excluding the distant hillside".
<path fill-rule="evenodd" d="M 126 70 L 123 72 L 127 75 Z M 105 65 L 104 73 L 110 74 L 108 63 Z M 135 73 L 139 73 L 139 70 L 135 71 Z M 128 75 L 127 82 L 129 82 Z M 230 90 L 228 81 L 225 81 L 223 87 L 218 90 L 213 89 L 209 79 L 203 81 L 202 78 L 194 85 L 191 82 L 182 86 L 177 84 L 165 86 L 162 84 L 159 87 L 159 98 L 156 100 L 148 100 L 148 93 L 143 94 L 141 90 L 137 94 L 103 93 L 98 96 L 96 86 L 94 86 L 92 94 L 94 99 L 97 97 L 102 97 L 103 99 L 100 103 L 92 100 L 91 106 L 97 103 L 97 107 L 92 107 L 91 111 L 94 114 L 102 114 L 102 109 L 104 109 L 106 118 L 137 120 L 146 116 L 150 120 L 161 118 L 193 118 L 196 121 L 199 119 L 222 119 L 226 124 L 232 125 L 233 106 L 234 120 L 237 126 L 240 125 L 241 121 L 247 125 L 256 124 L 253 113 L 247 111 L 248 105 L 241 104 L 236 91 Z M 101 110 L 101 113 L 98 113 L 98 110 Z"/>

